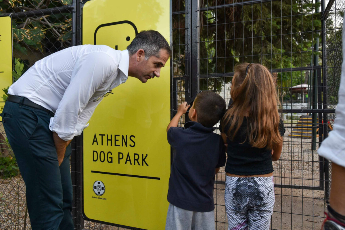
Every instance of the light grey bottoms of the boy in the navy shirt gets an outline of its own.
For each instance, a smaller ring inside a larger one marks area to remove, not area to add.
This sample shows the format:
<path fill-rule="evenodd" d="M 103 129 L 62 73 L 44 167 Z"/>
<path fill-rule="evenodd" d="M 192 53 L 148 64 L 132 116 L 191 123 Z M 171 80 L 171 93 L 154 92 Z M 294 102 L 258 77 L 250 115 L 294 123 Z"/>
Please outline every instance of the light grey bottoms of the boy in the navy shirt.
<path fill-rule="evenodd" d="M 169 204 L 165 230 L 215 230 L 214 212 L 193 212 Z"/>

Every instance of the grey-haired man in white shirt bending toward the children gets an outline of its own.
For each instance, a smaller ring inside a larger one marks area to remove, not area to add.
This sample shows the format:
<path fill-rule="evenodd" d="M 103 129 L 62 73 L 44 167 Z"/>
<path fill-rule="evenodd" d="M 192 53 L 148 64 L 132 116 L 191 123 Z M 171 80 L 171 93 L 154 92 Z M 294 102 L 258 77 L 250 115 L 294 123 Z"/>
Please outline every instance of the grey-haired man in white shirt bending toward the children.
<path fill-rule="evenodd" d="M 8 90 L 2 119 L 26 184 L 33 230 L 72 230 L 69 143 L 99 102 L 128 76 L 159 77 L 171 50 L 157 31 L 141 31 L 118 51 L 70 47 L 37 61 Z"/>

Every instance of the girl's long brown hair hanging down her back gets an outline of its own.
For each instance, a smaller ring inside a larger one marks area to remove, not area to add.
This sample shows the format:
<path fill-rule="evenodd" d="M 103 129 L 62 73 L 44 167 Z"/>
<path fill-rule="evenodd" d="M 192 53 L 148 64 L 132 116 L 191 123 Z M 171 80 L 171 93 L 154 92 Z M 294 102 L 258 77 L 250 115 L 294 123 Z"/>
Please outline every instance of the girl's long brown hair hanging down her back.
<path fill-rule="evenodd" d="M 247 138 L 256 148 L 272 149 L 282 142 L 278 131 L 278 96 L 270 71 L 261 64 L 236 64 L 230 95 L 233 99 L 221 126 L 230 123 L 227 136 L 233 140 L 249 113 Z M 246 74 L 246 69 L 248 71 Z"/>

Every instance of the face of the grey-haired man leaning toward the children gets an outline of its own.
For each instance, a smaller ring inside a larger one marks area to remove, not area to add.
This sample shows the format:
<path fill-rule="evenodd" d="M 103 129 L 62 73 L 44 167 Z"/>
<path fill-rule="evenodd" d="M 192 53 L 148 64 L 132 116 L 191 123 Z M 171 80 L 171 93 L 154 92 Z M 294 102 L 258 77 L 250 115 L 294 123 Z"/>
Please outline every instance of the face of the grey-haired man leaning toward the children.
<path fill-rule="evenodd" d="M 149 57 L 148 60 L 142 59 L 138 64 L 138 78 L 142 83 L 147 82 L 148 79 L 160 76 L 160 69 L 165 66 L 169 59 L 169 55 L 165 50 L 159 51 L 159 58 L 156 56 Z"/>

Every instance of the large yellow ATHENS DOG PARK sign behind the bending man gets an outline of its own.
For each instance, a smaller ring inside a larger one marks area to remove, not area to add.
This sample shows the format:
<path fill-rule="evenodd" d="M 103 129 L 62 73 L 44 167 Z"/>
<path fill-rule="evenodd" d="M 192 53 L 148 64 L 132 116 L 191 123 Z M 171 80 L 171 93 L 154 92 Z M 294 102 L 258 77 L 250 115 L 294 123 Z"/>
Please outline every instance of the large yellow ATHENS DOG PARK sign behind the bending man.
<path fill-rule="evenodd" d="M 91 0 L 83 7 L 83 44 L 125 50 L 141 30 L 169 42 L 170 1 Z M 170 61 L 143 84 L 128 77 L 97 107 L 83 135 L 83 204 L 88 220 L 161 230 L 168 210 Z"/>

